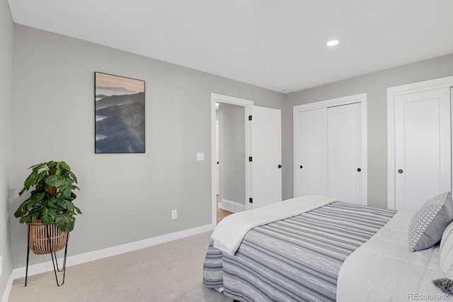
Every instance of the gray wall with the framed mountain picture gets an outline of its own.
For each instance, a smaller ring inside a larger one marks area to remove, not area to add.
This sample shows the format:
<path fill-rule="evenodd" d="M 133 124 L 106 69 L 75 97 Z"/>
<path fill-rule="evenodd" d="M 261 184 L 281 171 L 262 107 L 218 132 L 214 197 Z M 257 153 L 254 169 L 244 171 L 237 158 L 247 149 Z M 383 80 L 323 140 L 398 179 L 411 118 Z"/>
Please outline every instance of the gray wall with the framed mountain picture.
<path fill-rule="evenodd" d="M 94 153 L 94 71 L 146 81 L 146 153 Z M 211 93 L 286 109 L 282 93 L 15 25 L 10 215 L 26 197 L 17 196 L 26 169 L 55 159 L 71 165 L 81 187 L 75 202 L 84 214 L 69 255 L 210 224 Z M 25 238 L 25 226 L 11 221 L 13 267 L 25 265 Z"/>

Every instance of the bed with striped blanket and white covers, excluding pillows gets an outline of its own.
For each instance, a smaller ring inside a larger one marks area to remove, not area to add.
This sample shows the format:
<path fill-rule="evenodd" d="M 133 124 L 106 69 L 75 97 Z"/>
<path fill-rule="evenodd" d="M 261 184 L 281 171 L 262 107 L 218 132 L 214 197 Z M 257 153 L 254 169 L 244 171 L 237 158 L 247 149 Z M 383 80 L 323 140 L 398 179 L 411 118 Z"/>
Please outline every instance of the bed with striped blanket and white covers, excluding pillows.
<path fill-rule="evenodd" d="M 413 215 L 314 196 L 236 213 L 212 233 L 203 283 L 237 301 L 449 298 L 431 283 L 439 244 L 408 249 Z"/>

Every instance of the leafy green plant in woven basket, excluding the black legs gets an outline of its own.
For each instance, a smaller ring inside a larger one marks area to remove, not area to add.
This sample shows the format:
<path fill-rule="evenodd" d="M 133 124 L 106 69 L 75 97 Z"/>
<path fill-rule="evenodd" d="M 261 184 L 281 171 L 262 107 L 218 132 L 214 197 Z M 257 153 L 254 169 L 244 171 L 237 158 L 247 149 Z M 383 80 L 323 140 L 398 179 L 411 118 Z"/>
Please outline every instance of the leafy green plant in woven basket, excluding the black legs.
<path fill-rule="evenodd" d="M 76 175 L 64 161 L 32 165 L 19 195 L 32 189 L 30 197 L 18 207 L 14 216 L 28 223 L 28 246 L 35 254 L 57 252 L 67 244 L 77 214 L 74 205 L 79 190 Z"/>

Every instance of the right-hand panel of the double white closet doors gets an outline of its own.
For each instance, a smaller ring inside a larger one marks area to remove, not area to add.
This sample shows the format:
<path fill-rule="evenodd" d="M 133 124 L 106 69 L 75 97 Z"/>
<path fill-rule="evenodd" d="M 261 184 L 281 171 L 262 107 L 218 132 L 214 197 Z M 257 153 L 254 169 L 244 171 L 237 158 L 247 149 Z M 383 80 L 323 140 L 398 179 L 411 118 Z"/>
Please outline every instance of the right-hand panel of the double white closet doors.
<path fill-rule="evenodd" d="M 361 204 L 360 103 L 328 108 L 328 195 Z"/>

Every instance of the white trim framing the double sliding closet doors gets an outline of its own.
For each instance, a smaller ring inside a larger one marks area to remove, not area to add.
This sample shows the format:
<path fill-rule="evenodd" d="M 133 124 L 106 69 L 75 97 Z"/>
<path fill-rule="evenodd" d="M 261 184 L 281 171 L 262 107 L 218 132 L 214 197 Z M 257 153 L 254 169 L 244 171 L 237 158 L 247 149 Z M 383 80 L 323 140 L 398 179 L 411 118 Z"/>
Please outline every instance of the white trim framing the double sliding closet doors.
<path fill-rule="evenodd" d="M 303 105 L 294 106 L 292 110 L 292 126 L 293 126 L 293 148 L 296 148 L 296 140 L 297 140 L 297 129 L 296 129 L 296 118 L 297 112 L 307 111 L 307 110 L 315 110 L 321 108 L 328 108 L 333 106 L 340 106 L 340 105 L 348 105 L 352 103 L 360 103 L 361 108 L 361 127 L 362 127 L 362 204 L 368 204 L 368 111 L 367 111 L 367 93 L 359 93 L 355 95 L 348 95 L 343 96 L 341 98 L 333 98 L 331 100 L 321 100 L 319 102 L 308 103 Z M 294 150 L 293 152 L 293 162 L 294 165 L 297 163 L 297 152 Z M 293 178 L 294 178 L 294 196 L 297 190 L 297 170 L 296 168 L 293 169 Z"/>

